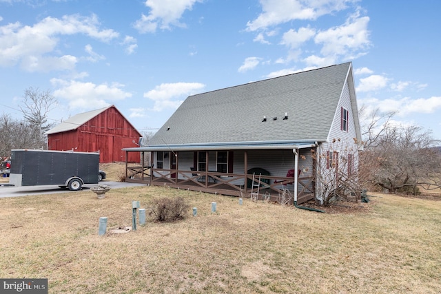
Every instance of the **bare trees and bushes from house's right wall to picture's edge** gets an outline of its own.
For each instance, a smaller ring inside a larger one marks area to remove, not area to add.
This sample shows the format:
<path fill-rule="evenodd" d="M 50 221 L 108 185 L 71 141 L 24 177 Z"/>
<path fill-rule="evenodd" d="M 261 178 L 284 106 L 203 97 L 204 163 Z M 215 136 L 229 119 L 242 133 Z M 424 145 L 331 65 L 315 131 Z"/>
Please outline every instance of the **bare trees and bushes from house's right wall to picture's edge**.
<path fill-rule="evenodd" d="M 421 188 L 441 188 L 440 140 L 422 127 L 395 123 L 395 114 L 362 107 L 362 142 L 335 138 L 328 150 L 312 151 L 321 167 L 316 182 L 322 204 L 360 198 L 363 190 L 417 195 Z"/>

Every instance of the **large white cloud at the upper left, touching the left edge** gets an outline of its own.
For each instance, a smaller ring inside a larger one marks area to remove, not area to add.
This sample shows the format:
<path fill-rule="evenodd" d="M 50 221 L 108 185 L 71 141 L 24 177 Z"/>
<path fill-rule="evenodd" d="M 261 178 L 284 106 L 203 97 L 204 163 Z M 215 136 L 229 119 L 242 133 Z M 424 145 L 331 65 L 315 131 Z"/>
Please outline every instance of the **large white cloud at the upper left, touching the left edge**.
<path fill-rule="evenodd" d="M 94 14 L 91 17 L 65 15 L 61 19 L 46 17 L 33 26 L 22 25 L 19 22 L 2 25 L 0 65 L 12 66 L 20 63 L 24 70 L 30 72 L 71 70 L 76 63 L 76 57 L 57 52 L 59 36 L 85 34 L 103 42 L 119 36 L 114 30 L 101 30 L 99 25 Z"/>

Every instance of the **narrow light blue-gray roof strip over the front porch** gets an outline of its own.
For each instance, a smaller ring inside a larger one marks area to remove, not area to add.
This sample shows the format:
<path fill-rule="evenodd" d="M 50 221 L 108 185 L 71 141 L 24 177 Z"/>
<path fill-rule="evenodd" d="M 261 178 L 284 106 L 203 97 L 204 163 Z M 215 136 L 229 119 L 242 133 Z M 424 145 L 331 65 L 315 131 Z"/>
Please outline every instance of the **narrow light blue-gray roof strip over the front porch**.
<path fill-rule="evenodd" d="M 261 141 L 205 144 L 153 145 L 150 147 L 123 148 L 125 151 L 198 151 L 198 150 L 251 150 L 251 149 L 302 149 L 315 147 L 317 142 Z"/>

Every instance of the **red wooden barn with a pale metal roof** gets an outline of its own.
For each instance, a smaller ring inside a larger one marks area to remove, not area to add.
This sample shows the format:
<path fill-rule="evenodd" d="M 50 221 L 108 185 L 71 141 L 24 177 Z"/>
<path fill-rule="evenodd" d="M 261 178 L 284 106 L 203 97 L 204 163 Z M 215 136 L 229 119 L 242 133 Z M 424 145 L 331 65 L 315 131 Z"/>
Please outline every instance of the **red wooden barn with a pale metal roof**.
<path fill-rule="evenodd" d="M 136 147 L 141 134 L 114 105 L 76 114 L 45 134 L 49 150 L 99 151 L 101 163 L 139 162 L 139 154 L 126 157 L 121 149 Z"/>

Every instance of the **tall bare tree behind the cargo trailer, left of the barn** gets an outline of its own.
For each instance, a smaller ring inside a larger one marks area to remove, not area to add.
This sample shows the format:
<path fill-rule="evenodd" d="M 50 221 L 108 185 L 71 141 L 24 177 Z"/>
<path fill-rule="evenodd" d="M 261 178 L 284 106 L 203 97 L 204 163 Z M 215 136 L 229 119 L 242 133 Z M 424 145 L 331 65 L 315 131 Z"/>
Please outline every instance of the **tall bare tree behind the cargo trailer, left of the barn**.
<path fill-rule="evenodd" d="M 39 88 L 28 87 L 23 100 L 24 106 L 20 109 L 34 136 L 34 142 L 30 147 L 42 147 L 46 141 L 44 133 L 54 125 L 48 123 L 48 113 L 57 106 L 57 99 L 49 90 L 41 91 Z"/>

